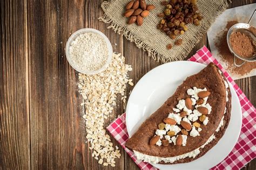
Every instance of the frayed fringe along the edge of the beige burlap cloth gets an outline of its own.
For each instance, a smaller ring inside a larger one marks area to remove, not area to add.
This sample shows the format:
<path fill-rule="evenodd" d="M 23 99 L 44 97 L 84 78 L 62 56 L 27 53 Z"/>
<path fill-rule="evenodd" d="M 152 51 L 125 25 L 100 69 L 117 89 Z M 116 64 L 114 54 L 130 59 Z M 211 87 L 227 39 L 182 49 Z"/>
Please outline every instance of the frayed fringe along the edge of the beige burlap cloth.
<path fill-rule="evenodd" d="M 108 8 L 108 6 L 112 3 L 112 1 L 115 0 L 107 0 L 104 1 L 101 5 L 103 11 L 105 12 Z M 117 25 L 116 23 L 112 22 L 110 16 L 108 16 L 106 13 L 104 13 L 104 16 L 99 17 L 98 19 L 104 23 L 111 23 L 110 26 L 107 27 L 107 29 L 112 28 L 114 32 L 117 32 L 118 34 L 122 34 L 122 36 L 125 36 L 127 40 L 130 40 L 131 42 L 135 42 L 136 46 L 138 48 L 142 48 L 144 51 L 147 51 L 149 56 L 152 56 L 154 60 L 157 60 L 158 62 L 161 61 L 162 63 L 176 61 L 176 60 L 183 60 L 186 58 L 187 54 L 190 53 L 192 48 L 198 44 L 198 42 L 201 40 L 201 37 L 210 29 L 211 24 L 214 22 L 215 18 L 217 18 L 221 13 L 223 13 L 228 6 L 228 2 L 231 3 L 230 0 L 220 0 L 222 5 L 219 5 L 216 7 L 216 13 L 212 15 L 210 18 L 207 19 L 207 22 L 205 22 L 203 26 L 203 30 L 201 30 L 196 36 L 193 36 L 190 41 L 190 46 L 186 46 L 183 51 L 180 52 L 180 55 L 173 56 L 172 58 L 167 58 L 163 54 L 157 53 L 152 47 L 149 47 L 143 40 L 140 40 L 139 37 L 132 33 L 131 30 L 129 30 L 127 27 Z"/>

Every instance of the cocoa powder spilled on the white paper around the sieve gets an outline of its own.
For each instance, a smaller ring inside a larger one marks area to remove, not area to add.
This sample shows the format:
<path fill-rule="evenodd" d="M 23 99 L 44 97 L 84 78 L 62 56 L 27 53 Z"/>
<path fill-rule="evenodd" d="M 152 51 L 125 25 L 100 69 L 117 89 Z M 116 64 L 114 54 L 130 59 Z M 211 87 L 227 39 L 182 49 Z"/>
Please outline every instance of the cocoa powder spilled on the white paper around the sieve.
<path fill-rule="evenodd" d="M 215 46 L 218 49 L 219 54 L 221 55 L 222 59 L 227 63 L 227 70 L 230 70 L 231 73 L 245 75 L 250 73 L 252 69 L 256 68 L 256 62 L 245 62 L 244 65 L 241 67 L 234 66 L 234 56 L 228 49 L 227 45 L 227 31 L 230 27 L 234 24 L 237 24 L 236 20 L 232 20 L 227 22 L 226 29 L 223 33 L 220 33 Z M 238 64 L 242 63 L 242 60 L 236 59 Z"/>

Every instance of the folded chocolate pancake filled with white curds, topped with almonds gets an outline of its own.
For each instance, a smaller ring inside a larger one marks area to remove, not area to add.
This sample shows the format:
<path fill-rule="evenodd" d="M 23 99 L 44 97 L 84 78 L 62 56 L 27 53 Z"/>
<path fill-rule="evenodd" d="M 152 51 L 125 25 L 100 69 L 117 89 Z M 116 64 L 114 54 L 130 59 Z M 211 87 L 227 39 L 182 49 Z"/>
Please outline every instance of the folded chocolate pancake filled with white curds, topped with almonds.
<path fill-rule="evenodd" d="M 187 77 L 139 127 L 125 146 L 150 163 L 195 160 L 223 137 L 230 121 L 231 92 L 214 63 Z"/>

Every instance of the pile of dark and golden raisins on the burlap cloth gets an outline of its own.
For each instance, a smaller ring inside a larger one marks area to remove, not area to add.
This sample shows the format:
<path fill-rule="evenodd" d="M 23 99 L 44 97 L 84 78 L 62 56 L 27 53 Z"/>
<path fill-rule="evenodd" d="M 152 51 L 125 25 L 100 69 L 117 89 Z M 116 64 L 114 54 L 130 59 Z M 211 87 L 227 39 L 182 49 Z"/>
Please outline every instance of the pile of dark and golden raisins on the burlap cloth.
<path fill-rule="evenodd" d="M 161 4 L 165 5 L 165 10 L 158 14 L 158 17 L 162 19 L 157 29 L 165 32 L 171 39 L 184 34 L 188 30 L 187 24 L 198 26 L 200 20 L 203 19 L 198 12 L 197 0 L 171 0 L 163 1 Z M 181 39 L 175 42 L 175 45 L 181 44 Z M 167 49 L 171 48 L 172 44 L 167 45 Z"/>

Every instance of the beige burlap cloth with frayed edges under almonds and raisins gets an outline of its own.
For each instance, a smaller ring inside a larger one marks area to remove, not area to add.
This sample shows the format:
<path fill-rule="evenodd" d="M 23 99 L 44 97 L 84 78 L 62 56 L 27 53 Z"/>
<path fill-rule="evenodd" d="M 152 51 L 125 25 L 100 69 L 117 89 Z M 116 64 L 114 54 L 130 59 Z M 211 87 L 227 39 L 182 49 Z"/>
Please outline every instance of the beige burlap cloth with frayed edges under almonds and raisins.
<path fill-rule="evenodd" d="M 163 12 L 164 6 L 161 1 L 146 1 L 147 4 L 153 4 L 156 9 L 150 12 L 150 15 L 144 18 L 142 26 L 136 24 L 127 25 L 127 18 L 123 16 L 125 5 L 130 0 L 109 0 L 102 3 L 104 16 L 100 17 L 104 23 L 110 23 L 108 28 L 115 32 L 123 34 L 126 39 L 134 41 L 138 48 L 143 48 L 154 60 L 163 63 L 186 58 L 191 49 L 200 41 L 201 37 L 207 32 L 215 18 L 219 16 L 228 6 L 228 0 L 198 0 L 199 12 L 204 16 L 199 26 L 188 25 L 188 31 L 177 37 L 183 39 L 181 46 L 173 46 L 172 49 L 166 48 L 167 44 L 174 44 L 165 33 L 157 29 L 160 18 L 158 13 Z M 177 40 L 176 39 L 176 40 Z"/>

